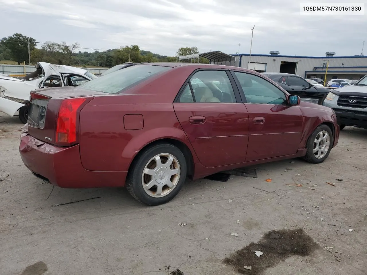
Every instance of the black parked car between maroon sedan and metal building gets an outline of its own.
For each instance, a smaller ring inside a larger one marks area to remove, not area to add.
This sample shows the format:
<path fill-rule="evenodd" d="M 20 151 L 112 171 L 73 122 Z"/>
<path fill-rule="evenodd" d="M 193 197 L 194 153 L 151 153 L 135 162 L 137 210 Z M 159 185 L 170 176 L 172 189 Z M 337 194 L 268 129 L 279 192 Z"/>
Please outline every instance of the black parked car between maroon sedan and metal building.
<path fill-rule="evenodd" d="M 285 73 L 263 73 L 271 80 L 277 82 L 283 89 L 291 95 L 298 95 L 304 99 L 317 99 L 318 104 L 322 104 L 324 98 L 330 92 L 329 88 L 313 87 L 303 77 L 295 74 Z"/>

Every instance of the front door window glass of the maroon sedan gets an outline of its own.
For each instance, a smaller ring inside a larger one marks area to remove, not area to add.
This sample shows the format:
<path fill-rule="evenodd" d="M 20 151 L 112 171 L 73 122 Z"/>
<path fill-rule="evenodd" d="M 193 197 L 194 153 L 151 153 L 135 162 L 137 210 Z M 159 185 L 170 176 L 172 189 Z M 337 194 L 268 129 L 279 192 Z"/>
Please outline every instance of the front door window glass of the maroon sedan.
<path fill-rule="evenodd" d="M 247 103 L 284 104 L 287 99 L 284 93 L 262 77 L 248 73 L 235 72 Z"/>

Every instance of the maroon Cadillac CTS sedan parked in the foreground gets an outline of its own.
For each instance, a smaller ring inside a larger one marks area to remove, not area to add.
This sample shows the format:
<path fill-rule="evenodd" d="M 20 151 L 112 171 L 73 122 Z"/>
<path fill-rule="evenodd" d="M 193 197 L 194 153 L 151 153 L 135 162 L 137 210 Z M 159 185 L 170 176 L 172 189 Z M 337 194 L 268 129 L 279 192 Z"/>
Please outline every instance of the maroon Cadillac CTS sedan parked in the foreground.
<path fill-rule="evenodd" d="M 301 102 L 257 72 L 145 63 L 33 91 L 19 151 L 52 184 L 126 186 L 159 205 L 187 177 L 296 157 L 323 162 L 338 138 L 332 109 Z"/>

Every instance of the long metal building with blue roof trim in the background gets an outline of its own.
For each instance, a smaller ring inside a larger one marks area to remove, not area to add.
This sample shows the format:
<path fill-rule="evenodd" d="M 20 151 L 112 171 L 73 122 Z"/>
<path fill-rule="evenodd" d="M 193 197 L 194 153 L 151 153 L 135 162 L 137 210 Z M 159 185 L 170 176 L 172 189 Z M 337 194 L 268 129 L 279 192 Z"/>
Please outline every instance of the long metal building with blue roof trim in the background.
<path fill-rule="evenodd" d="M 255 70 L 257 72 L 291 73 L 302 77 L 324 79 L 360 79 L 367 74 L 367 56 L 334 56 L 335 52 L 326 52 L 326 56 L 290 56 L 280 55 L 277 51 L 269 54 L 233 54 L 233 66 Z"/>

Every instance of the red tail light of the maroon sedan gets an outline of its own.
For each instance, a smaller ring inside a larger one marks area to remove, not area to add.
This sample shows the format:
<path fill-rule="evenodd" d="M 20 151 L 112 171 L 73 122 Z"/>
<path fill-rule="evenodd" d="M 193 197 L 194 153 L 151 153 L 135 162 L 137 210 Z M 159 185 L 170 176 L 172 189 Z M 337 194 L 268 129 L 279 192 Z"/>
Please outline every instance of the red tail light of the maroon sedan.
<path fill-rule="evenodd" d="M 63 99 L 57 116 L 56 143 L 68 146 L 77 141 L 78 113 L 92 97 Z"/>

